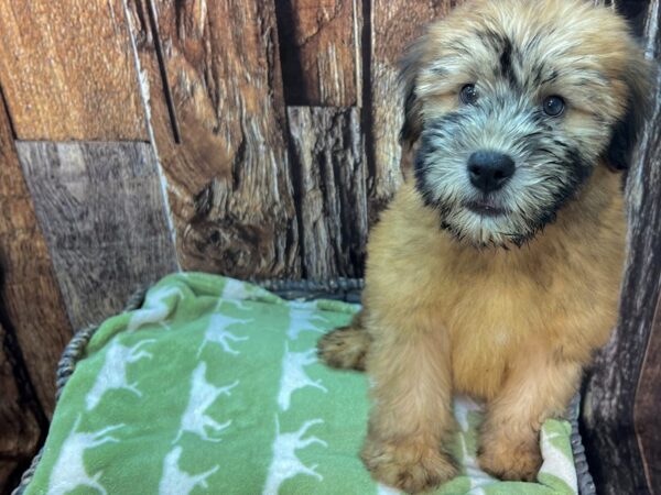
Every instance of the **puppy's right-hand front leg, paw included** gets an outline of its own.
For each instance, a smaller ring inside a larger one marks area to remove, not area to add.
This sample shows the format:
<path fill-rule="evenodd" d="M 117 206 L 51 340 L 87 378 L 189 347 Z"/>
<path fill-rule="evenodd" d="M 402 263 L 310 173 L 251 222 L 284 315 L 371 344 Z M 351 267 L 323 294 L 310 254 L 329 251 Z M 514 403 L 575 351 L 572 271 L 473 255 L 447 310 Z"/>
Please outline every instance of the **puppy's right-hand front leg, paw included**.
<path fill-rule="evenodd" d="M 502 391 L 487 405 L 479 464 L 502 480 L 533 481 L 540 470 L 540 429 L 562 417 L 581 381 L 581 365 L 548 353 L 522 352 Z"/>

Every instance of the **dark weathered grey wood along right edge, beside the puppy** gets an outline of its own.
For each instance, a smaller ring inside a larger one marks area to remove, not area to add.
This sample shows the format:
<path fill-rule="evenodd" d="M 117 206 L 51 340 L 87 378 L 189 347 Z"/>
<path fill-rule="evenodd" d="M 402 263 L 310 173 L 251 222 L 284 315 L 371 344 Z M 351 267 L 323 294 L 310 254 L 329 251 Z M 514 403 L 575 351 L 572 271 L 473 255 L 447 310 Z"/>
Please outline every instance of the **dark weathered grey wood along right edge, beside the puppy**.
<path fill-rule="evenodd" d="M 649 2 L 647 12 L 646 48 L 658 64 L 661 55 L 659 0 Z M 648 386 L 655 389 L 657 409 L 660 397 L 658 383 L 639 385 L 639 377 L 661 288 L 661 77 L 658 77 L 651 107 L 627 183 L 629 253 L 619 323 L 589 376 L 583 410 L 589 466 L 599 493 L 608 495 L 651 493 L 653 486 L 648 485 L 644 466 L 647 462 L 649 473 L 648 461 L 658 459 L 653 457 L 657 453 L 646 460 L 640 452 L 641 446 L 643 449 L 649 446 L 642 438 L 649 436 L 650 429 L 658 435 L 658 411 L 650 418 L 644 406 L 635 411 L 635 405 L 651 398 L 641 396 Z M 643 370 L 642 380 L 644 376 Z M 646 455 L 648 452 L 643 450 Z M 658 492 L 658 486 L 654 488 Z"/>

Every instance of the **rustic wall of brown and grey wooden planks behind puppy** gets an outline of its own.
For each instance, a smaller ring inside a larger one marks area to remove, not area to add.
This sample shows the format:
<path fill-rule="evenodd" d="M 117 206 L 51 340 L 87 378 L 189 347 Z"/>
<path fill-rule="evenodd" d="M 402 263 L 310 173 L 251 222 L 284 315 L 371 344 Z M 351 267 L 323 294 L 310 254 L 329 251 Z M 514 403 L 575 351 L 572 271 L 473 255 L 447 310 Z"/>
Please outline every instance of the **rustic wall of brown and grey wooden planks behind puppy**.
<path fill-rule="evenodd" d="M 0 0 L 0 480 L 43 439 L 73 328 L 138 285 L 361 276 L 410 162 L 398 59 L 462 1 Z M 615 2 L 657 57 L 659 2 Z M 584 413 L 609 494 L 661 483 L 659 101 L 628 185 L 622 318 Z"/>

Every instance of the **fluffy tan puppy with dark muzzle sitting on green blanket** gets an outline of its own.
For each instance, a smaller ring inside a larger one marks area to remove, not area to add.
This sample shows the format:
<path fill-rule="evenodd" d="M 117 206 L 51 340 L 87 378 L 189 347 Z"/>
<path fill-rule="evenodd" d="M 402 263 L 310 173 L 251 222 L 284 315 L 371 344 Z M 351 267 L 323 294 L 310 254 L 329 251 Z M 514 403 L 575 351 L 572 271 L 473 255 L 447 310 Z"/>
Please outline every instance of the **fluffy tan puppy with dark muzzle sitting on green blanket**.
<path fill-rule="evenodd" d="M 564 413 L 617 318 L 621 170 L 648 65 L 624 20 L 578 0 L 484 0 L 410 48 L 414 178 L 373 228 L 364 310 L 319 341 L 366 367 L 361 458 L 405 492 L 453 477 L 453 394 L 486 404 L 481 468 L 533 480 L 542 422 Z"/>

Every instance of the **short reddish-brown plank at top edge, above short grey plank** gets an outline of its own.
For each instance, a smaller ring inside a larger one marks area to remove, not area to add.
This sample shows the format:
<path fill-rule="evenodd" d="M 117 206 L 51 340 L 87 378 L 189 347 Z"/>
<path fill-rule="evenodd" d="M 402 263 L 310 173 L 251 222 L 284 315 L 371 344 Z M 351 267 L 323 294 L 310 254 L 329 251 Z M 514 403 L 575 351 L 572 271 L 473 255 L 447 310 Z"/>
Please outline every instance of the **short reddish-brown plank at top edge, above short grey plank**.
<path fill-rule="evenodd" d="M 356 0 L 275 2 L 288 105 L 358 105 L 360 6 Z"/>

